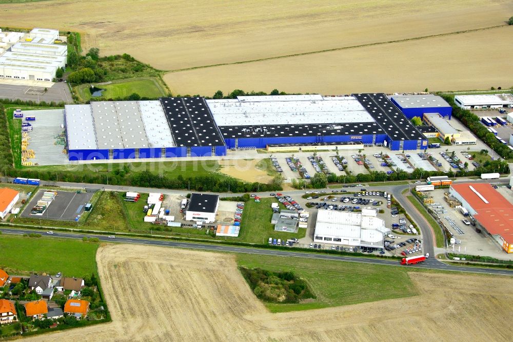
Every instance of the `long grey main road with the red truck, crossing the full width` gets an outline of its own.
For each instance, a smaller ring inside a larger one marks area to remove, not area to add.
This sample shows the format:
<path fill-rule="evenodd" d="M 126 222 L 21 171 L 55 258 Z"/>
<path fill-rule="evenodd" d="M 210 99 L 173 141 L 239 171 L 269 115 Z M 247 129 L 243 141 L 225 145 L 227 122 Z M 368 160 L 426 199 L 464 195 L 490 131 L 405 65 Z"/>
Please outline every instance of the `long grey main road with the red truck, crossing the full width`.
<path fill-rule="evenodd" d="M 87 236 L 87 237 L 95 237 L 102 241 L 113 242 L 112 239 L 109 239 L 105 235 L 73 234 L 73 233 L 60 233 L 60 232 L 54 232 L 53 234 L 50 235 L 50 234 L 46 234 L 46 232 L 44 232 L 44 231 L 23 230 L 23 229 L 4 229 L 4 228 L 0 229 L 0 231 L 2 231 L 5 234 L 15 234 L 15 235 L 40 233 L 45 238 L 82 239 L 84 236 Z M 395 267 L 424 268 L 424 269 L 435 269 L 435 270 L 453 271 L 453 272 L 486 273 L 486 274 L 513 276 L 513 270 L 453 266 L 453 265 L 444 264 L 443 262 L 440 262 L 436 259 L 427 259 L 425 262 L 423 262 L 421 264 L 402 266 L 402 265 L 400 265 L 398 260 L 386 260 L 386 259 L 365 258 L 365 257 L 348 257 L 348 256 L 339 256 L 339 255 L 330 255 L 330 254 L 321 254 L 321 253 L 302 253 L 302 252 L 293 252 L 293 251 L 286 251 L 286 250 L 266 250 L 266 249 L 259 249 L 259 248 L 234 247 L 234 246 L 206 244 L 206 243 L 175 242 L 175 241 L 139 239 L 139 238 L 120 237 L 120 236 L 117 236 L 115 238 L 115 242 L 138 243 L 138 244 L 166 246 L 166 247 L 175 247 L 175 248 L 186 248 L 186 249 L 194 249 L 194 250 L 213 251 L 213 252 L 249 253 L 249 254 L 274 255 L 274 256 L 283 256 L 283 257 L 338 260 L 338 261 L 347 261 L 347 262 L 372 263 L 372 264 L 388 265 L 388 266 L 395 266 Z"/>

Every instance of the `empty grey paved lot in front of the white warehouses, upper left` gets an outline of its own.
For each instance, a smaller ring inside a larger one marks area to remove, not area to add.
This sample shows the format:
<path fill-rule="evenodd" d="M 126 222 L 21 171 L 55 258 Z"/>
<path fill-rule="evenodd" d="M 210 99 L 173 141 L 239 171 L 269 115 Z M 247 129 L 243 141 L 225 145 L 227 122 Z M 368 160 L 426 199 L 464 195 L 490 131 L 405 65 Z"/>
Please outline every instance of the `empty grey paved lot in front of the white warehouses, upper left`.
<path fill-rule="evenodd" d="M 6 83 L 0 84 L 0 98 L 16 100 L 20 99 L 23 101 L 34 101 L 41 102 L 65 102 L 72 103 L 73 97 L 69 90 L 69 86 L 64 82 L 57 82 L 47 87 L 41 86 L 27 86 L 19 84 Z"/>

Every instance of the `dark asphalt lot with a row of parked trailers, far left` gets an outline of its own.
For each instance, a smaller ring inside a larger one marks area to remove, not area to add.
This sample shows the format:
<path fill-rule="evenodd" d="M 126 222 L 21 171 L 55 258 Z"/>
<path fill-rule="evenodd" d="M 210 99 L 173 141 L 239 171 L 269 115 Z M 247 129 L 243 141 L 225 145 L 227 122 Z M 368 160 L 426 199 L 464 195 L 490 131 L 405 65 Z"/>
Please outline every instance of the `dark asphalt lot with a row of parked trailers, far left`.
<path fill-rule="evenodd" d="M 39 218 L 60 221 L 74 221 L 78 215 L 84 212 L 84 206 L 91 200 L 94 193 L 76 193 L 69 191 L 57 191 L 55 199 L 50 203 L 43 216 L 30 215 L 32 208 L 41 200 L 46 190 L 40 189 L 30 203 L 25 207 L 21 217 Z M 94 210 L 94 208 L 93 208 Z"/>

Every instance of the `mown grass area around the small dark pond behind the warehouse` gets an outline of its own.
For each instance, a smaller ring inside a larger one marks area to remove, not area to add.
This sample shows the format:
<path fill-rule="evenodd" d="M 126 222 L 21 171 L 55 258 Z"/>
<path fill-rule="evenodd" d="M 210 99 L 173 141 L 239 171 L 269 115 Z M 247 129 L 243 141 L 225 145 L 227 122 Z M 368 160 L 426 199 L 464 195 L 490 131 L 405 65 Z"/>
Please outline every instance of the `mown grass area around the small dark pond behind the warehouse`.
<path fill-rule="evenodd" d="M 115 99 L 115 98 L 126 98 L 132 93 L 139 94 L 141 97 L 150 99 L 156 99 L 162 96 L 166 96 L 164 86 L 160 83 L 160 80 L 154 77 L 142 77 L 128 80 L 116 80 L 110 84 L 98 84 L 93 83 L 97 88 L 105 89 L 101 97 L 98 99 Z M 91 100 L 91 92 L 89 91 L 90 84 L 82 84 L 75 87 L 76 93 L 80 98 L 80 101 Z"/>

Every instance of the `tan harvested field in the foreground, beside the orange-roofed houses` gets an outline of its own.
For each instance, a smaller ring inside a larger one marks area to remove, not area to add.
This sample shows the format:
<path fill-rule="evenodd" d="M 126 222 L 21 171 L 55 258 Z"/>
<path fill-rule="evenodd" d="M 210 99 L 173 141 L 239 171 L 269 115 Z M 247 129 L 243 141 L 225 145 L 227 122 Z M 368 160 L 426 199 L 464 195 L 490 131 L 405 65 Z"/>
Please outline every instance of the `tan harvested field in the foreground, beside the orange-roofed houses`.
<path fill-rule="evenodd" d="M 113 322 L 27 340 L 367 341 L 383 340 L 393 327 L 394 336 L 481 341 L 513 332 L 513 311 L 504 305 L 513 299 L 511 277 L 411 272 L 419 296 L 271 314 L 234 255 L 111 244 L 96 260 Z"/>

